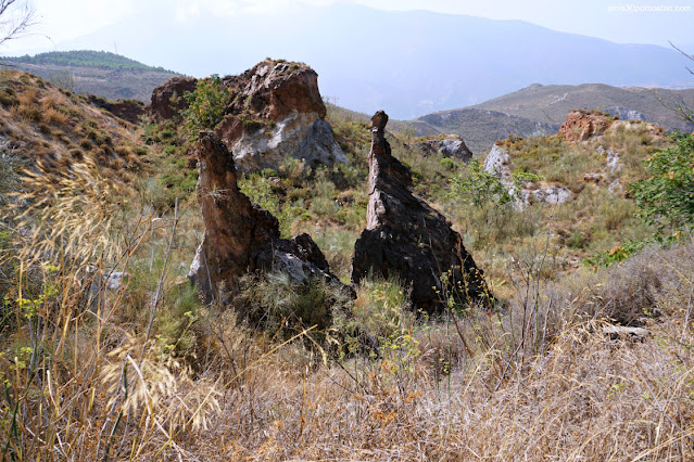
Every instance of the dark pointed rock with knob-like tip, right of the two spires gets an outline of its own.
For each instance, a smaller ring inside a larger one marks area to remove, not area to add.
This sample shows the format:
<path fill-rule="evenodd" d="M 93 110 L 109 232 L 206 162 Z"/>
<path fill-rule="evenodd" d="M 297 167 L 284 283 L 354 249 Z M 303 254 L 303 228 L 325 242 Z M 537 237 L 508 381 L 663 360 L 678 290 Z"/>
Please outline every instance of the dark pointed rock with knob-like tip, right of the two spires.
<path fill-rule="evenodd" d="M 449 288 L 460 284 L 451 294 L 458 303 L 490 298 L 460 235 L 413 195 L 409 169 L 391 155 L 383 134 L 388 115 L 379 111 L 371 123 L 366 229 L 354 246 L 352 282 L 358 284 L 369 274 L 398 278 L 408 291 L 412 309 L 428 313 L 445 308 L 441 275 L 447 271 Z"/>

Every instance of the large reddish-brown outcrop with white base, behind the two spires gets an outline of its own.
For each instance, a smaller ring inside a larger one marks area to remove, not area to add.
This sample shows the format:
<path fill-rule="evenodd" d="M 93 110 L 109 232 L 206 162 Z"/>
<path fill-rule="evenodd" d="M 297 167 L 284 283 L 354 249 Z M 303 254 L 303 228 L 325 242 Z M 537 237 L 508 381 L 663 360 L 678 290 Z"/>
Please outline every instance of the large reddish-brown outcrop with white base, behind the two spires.
<path fill-rule="evenodd" d="M 287 157 L 306 165 L 346 163 L 318 91 L 318 75 L 305 64 L 264 61 L 227 76 L 231 94 L 215 129 L 243 170 L 277 168 Z"/>

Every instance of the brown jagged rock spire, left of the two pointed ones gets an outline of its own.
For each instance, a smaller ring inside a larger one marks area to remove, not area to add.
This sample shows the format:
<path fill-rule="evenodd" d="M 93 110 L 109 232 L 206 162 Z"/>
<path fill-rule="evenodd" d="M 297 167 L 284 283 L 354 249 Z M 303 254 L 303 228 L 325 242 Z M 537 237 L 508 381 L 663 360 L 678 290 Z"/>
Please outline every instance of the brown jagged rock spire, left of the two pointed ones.
<path fill-rule="evenodd" d="M 234 157 L 211 132 L 201 132 L 197 146 L 198 200 L 205 233 L 189 278 L 207 301 L 228 303 L 248 271 L 275 270 L 296 282 L 312 277 L 341 283 L 310 235 L 280 239 L 279 222 L 252 204 L 237 185 Z"/>

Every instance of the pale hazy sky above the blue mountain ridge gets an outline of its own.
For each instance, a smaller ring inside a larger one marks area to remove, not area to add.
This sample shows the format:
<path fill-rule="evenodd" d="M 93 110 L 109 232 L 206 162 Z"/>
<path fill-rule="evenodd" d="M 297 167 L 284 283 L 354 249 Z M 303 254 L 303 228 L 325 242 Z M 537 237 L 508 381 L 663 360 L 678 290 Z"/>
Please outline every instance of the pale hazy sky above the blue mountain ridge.
<path fill-rule="evenodd" d="M 520 20 L 551 29 L 621 43 L 668 40 L 694 47 L 694 0 L 33 0 L 39 16 L 35 35 L 5 43 L 0 54 L 61 50 L 61 42 L 126 21 L 147 3 L 175 9 L 180 22 L 204 15 L 239 17 L 247 10 L 281 14 L 295 2 L 325 5 L 361 3 L 382 10 L 428 10 L 492 20 Z M 683 11 L 689 10 L 689 11 Z M 152 21 L 156 21 L 155 17 Z M 691 51 L 690 52 L 694 52 Z"/>

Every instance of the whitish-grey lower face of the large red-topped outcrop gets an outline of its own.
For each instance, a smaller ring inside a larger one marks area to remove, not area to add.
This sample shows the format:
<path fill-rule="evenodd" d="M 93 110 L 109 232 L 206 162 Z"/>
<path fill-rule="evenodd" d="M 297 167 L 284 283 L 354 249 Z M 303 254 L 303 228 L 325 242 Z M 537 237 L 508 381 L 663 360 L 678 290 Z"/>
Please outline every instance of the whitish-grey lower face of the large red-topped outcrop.
<path fill-rule="evenodd" d="M 293 113 L 273 127 L 243 132 L 230 151 L 237 167 L 247 171 L 277 168 L 287 157 L 304 159 L 307 166 L 349 162 L 330 125 L 313 113 Z"/>

